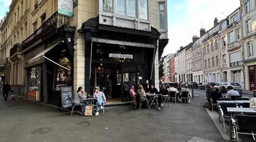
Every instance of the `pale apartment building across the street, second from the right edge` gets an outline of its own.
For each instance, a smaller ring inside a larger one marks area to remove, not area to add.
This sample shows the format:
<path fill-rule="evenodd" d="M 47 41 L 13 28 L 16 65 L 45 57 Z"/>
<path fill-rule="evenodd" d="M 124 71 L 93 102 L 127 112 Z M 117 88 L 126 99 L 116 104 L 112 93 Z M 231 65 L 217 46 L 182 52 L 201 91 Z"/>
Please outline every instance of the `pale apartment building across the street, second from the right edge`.
<path fill-rule="evenodd" d="M 238 8 L 220 23 L 222 59 L 220 62 L 222 62 L 222 80 L 237 82 L 244 89 L 241 29 L 240 8 Z"/>

